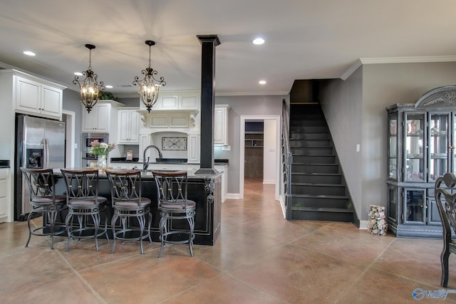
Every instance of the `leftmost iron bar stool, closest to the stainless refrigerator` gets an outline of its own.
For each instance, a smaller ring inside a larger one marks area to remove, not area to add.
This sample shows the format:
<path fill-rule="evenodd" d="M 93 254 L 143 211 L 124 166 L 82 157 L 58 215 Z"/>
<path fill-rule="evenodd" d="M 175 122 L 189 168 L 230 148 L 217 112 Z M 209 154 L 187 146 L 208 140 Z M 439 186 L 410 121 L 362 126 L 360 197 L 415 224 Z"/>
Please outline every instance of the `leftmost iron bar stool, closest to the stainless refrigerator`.
<path fill-rule="evenodd" d="M 55 231 L 57 214 L 67 209 L 66 196 L 56 195 L 56 184 L 52 169 L 27 169 L 21 167 L 22 174 L 28 185 L 30 194 L 31 212 L 27 217 L 28 243 L 31 236 L 51 236 L 51 249 L 54 248 L 54 236 L 61 235 L 65 229 Z M 30 219 L 32 214 L 43 215 L 43 226 L 31 229 Z M 62 227 L 63 228 L 63 227 Z"/>

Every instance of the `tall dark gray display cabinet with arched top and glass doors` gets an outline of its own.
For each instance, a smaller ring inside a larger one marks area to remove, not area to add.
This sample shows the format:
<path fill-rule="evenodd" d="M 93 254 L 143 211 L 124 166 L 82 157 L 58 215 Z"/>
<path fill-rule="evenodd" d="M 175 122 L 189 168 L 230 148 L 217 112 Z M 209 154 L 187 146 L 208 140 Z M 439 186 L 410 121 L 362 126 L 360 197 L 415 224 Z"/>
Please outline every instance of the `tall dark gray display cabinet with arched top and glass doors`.
<path fill-rule="evenodd" d="M 388 230 L 441 238 L 435 180 L 456 171 L 456 86 L 435 88 L 388 111 Z"/>

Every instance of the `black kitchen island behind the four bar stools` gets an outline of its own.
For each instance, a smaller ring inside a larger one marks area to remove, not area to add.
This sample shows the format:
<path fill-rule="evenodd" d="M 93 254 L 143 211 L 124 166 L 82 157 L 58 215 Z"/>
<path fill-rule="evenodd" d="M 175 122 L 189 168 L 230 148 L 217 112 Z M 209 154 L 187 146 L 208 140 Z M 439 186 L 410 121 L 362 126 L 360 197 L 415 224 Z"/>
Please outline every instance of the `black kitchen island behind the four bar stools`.
<path fill-rule="evenodd" d="M 122 169 L 118 169 L 122 170 Z M 56 177 L 56 194 L 66 194 L 65 182 L 61 171 L 54 170 Z M 103 172 L 100 170 L 100 172 Z M 187 199 L 195 201 L 197 210 L 195 215 L 195 240 L 193 243 L 199 245 L 214 245 L 217 237 L 220 234 L 221 220 L 221 180 L 222 174 L 194 174 L 188 172 L 188 192 Z M 157 210 L 157 187 L 152 172 L 142 174 L 142 196 L 148 197 L 152 201 L 152 241 L 159 241 L 158 224 L 160 221 L 160 213 Z M 108 199 L 108 226 L 110 225 L 110 216 L 113 214 L 110 207 L 110 184 L 106 174 L 100 173 L 98 176 L 98 195 Z M 66 214 L 65 214 L 66 216 Z M 104 222 L 104 219 L 103 221 Z M 57 223 L 64 224 L 64 223 Z M 175 223 L 172 229 L 179 229 Z M 111 232 L 111 229 L 108 229 Z"/>

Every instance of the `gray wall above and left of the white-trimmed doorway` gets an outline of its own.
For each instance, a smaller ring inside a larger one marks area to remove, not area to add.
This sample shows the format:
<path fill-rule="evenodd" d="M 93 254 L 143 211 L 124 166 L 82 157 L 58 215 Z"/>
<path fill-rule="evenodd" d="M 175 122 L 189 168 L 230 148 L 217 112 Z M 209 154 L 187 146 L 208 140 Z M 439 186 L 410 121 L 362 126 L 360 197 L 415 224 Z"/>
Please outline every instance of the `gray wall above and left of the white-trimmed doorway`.
<path fill-rule="evenodd" d="M 242 115 L 281 115 L 282 100 L 285 95 L 268 96 L 216 96 L 215 104 L 230 105 L 228 115 L 228 138 L 231 151 L 215 148 L 214 158 L 228 159 L 228 193 L 239 194 L 239 153 L 240 123 Z"/>

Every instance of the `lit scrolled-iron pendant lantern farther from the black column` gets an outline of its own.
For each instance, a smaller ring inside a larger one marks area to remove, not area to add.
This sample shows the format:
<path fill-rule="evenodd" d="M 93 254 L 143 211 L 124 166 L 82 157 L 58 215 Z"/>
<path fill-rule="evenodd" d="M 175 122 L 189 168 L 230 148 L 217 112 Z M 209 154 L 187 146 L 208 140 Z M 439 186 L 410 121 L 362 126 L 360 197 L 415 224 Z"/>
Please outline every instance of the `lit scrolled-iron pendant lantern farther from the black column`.
<path fill-rule="evenodd" d="M 88 56 L 88 68 L 83 71 L 83 75 L 86 79 L 79 80 L 79 76 L 75 76 L 73 83 L 79 85 L 79 91 L 81 93 L 81 103 L 86 107 L 87 112 L 90 113 L 95 103 L 98 101 L 98 93 L 100 90 L 104 90 L 103 81 L 98 82 L 98 75 L 93 73 L 91 65 L 92 50 L 95 48 L 93 44 L 86 44 L 86 48 L 89 49 Z"/>

